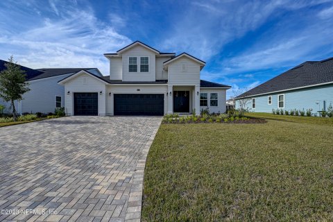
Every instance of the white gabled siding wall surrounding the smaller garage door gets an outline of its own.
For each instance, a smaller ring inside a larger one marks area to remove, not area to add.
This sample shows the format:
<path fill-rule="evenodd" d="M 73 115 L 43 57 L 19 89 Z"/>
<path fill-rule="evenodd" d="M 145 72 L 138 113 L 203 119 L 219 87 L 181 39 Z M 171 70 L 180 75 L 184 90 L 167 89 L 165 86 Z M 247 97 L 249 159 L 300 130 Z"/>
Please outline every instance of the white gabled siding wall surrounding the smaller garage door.
<path fill-rule="evenodd" d="M 86 84 L 84 83 L 85 79 L 87 80 Z M 76 78 L 65 83 L 65 92 L 65 108 L 69 115 L 74 114 L 74 92 L 102 92 L 101 95 L 99 94 L 99 116 L 105 116 L 105 97 L 108 93 L 105 90 L 105 83 L 88 74 L 80 74 Z M 69 92 L 69 95 L 67 95 L 67 92 Z"/>

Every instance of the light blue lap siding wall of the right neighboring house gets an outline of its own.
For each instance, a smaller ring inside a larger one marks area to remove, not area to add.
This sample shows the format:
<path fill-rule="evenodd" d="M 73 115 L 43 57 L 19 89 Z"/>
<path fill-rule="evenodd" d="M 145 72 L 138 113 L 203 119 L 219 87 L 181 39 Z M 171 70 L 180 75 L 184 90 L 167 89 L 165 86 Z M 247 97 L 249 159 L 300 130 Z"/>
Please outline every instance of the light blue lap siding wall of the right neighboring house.
<path fill-rule="evenodd" d="M 250 112 L 272 112 L 272 109 L 278 109 L 278 94 L 284 94 L 283 110 L 307 110 L 311 108 L 314 112 L 318 112 L 323 109 L 323 101 L 326 101 L 326 108 L 330 103 L 333 105 L 333 85 L 323 85 L 252 97 L 256 99 L 256 108 L 252 109 L 252 102 L 249 101 Z M 268 96 L 272 96 L 272 105 L 268 105 Z M 238 102 L 237 108 L 239 108 Z"/>

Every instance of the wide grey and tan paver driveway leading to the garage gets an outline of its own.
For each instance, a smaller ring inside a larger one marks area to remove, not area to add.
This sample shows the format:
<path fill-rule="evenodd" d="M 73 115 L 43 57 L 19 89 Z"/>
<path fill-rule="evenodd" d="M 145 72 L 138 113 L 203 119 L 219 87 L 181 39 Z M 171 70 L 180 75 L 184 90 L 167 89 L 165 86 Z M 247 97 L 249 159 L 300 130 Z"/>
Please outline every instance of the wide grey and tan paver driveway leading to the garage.
<path fill-rule="evenodd" d="M 65 117 L 0 128 L 0 221 L 139 221 L 161 120 Z"/>

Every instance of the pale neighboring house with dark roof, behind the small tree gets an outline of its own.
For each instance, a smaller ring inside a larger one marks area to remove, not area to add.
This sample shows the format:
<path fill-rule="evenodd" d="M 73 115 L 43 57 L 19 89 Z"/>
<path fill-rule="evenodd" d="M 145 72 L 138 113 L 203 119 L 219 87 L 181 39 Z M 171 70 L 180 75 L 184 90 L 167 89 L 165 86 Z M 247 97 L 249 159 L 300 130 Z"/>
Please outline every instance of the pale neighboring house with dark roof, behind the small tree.
<path fill-rule="evenodd" d="M 6 61 L 0 60 L 0 71 L 6 69 Z M 102 76 L 96 68 L 64 68 L 64 69 L 30 69 L 20 66 L 26 71 L 26 80 L 31 91 L 23 95 L 23 100 L 15 102 L 15 108 L 19 114 L 24 112 L 54 112 L 56 108 L 64 107 L 65 87 L 58 84 L 59 80 L 76 73 L 87 70 L 96 76 Z M 10 111 L 10 102 L 0 99 L 0 104 L 5 105 L 4 112 Z"/>

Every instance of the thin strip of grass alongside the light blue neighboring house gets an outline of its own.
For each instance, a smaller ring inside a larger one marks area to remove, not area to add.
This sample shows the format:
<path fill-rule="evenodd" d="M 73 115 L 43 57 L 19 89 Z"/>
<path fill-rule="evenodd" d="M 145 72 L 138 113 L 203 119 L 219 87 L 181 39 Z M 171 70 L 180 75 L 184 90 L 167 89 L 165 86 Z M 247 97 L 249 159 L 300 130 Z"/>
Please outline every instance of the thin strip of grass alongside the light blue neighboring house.
<path fill-rule="evenodd" d="M 277 115 L 264 112 L 247 112 L 246 117 L 257 117 L 264 119 L 273 119 L 273 120 L 282 120 L 289 121 L 293 123 L 309 123 L 315 125 L 327 125 L 333 126 L 333 118 L 331 117 L 296 117 L 296 116 L 286 116 L 286 115 Z"/>

